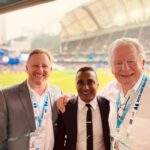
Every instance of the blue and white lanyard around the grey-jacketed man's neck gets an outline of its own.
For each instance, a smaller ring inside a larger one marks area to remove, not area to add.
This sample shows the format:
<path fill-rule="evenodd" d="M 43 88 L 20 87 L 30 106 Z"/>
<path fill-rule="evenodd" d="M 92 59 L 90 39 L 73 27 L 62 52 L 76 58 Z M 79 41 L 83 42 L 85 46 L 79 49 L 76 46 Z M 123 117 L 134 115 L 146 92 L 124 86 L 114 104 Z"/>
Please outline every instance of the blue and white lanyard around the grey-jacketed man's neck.
<path fill-rule="evenodd" d="M 47 109 L 48 109 L 48 102 L 49 102 L 48 101 L 48 96 L 49 96 L 49 94 L 46 93 L 46 95 L 44 97 L 44 102 L 43 102 L 41 114 L 39 113 L 37 101 L 35 101 L 35 100 L 33 101 L 33 110 L 34 110 L 36 127 L 41 127 L 45 123 L 44 121 L 46 119 Z"/>

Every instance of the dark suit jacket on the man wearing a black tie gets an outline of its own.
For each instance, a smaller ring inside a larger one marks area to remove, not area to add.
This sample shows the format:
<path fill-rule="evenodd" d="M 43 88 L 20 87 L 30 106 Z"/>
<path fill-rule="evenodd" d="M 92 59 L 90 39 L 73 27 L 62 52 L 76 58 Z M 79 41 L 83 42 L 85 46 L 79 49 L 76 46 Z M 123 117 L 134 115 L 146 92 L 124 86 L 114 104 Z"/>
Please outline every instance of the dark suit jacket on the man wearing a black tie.
<path fill-rule="evenodd" d="M 109 102 L 99 96 L 97 97 L 97 101 L 102 119 L 105 150 L 110 150 L 110 130 L 108 125 Z M 65 113 L 59 115 L 57 121 L 58 133 L 55 139 L 54 150 L 76 150 L 77 106 L 78 100 L 76 97 L 68 102 Z"/>

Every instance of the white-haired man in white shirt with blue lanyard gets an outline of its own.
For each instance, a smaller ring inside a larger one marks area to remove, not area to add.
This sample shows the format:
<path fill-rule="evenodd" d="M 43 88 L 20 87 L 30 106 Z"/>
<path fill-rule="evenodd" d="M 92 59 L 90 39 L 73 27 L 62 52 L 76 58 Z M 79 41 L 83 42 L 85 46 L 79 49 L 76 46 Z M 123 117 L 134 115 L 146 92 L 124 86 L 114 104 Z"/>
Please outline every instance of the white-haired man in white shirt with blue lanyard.
<path fill-rule="evenodd" d="M 114 41 L 109 48 L 110 65 L 116 81 L 101 95 L 111 100 L 110 128 L 116 150 L 148 150 L 150 145 L 150 78 L 145 75 L 145 53 L 132 38 Z"/>

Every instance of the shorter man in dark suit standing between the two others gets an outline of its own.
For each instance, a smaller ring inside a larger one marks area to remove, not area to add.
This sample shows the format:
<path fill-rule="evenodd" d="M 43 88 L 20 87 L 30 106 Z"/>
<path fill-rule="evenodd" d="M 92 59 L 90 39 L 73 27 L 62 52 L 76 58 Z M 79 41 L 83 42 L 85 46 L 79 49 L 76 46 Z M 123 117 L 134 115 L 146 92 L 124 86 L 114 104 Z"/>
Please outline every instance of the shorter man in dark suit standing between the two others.
<path fill-rule="evenodd" d="M 70 99 L 66 111 L 59 114 L 54 150 L 86 150 L 86 104 L 92 109 L 93 150 L 110 150 L 109 102 L 96 96 L 98 86 L 97 75 L 91 67 L 77 71 L 78 95 Z"/>

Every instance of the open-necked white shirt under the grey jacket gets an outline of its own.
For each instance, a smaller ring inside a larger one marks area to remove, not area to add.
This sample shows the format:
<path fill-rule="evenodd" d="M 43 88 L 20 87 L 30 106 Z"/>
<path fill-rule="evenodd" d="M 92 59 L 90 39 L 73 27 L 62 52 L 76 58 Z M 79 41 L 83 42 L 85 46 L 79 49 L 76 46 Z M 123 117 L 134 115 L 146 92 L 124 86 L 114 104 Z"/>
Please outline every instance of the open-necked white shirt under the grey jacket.
<path fill-rule="evenodd" d="M 29 88 L 29 93 L 30 93 L 30 97 L 31 97 L 31 101 L 36 101 L 37 105 L 38 105 L 38 111 L 39 114 L 41 114 L 42 112 L 42 107 L 43 107 L 43 103 L 44 103 L 44 99 L 45 99 L 45 94 L 48 92 L 49 93 L 49 87 L 46 89 L 46 91 L 42 94 L 39 95 L 37 92 L 35 92 L 31 86 L 29 85 L 29 83 L 27 82 L 28 88 Z M 45 120 L 45 125 L 44 125 L 44 129 L 45 129 L 45 143 L 44 143 L 44 149 L 43 150 L 53 150 L 54 147 L 54 131 L 53 131 L 53 125 L 52 125 L 52 111 L 51 111 L 51 107 L 50 107 L 50 93 L 48 96 L 48 112 L 47 112 L 47 117 Z M 34 114 L 35 115 L 35 114 Z M 36 125 L 37 128 L 37 125 Z"/>

